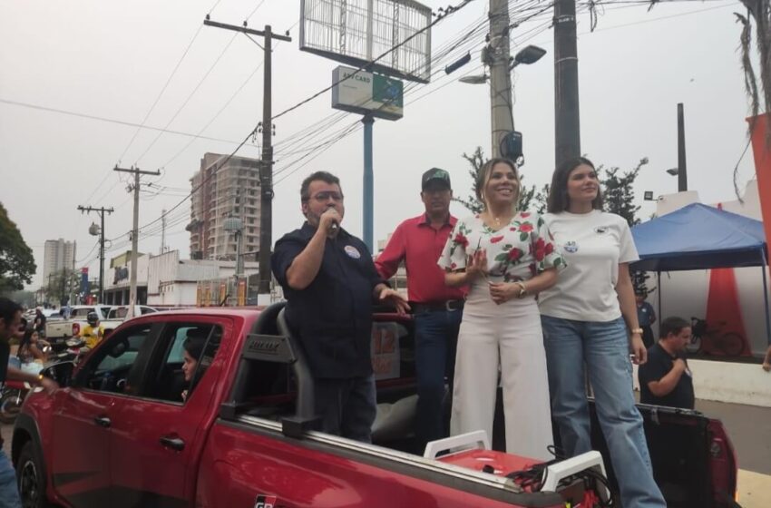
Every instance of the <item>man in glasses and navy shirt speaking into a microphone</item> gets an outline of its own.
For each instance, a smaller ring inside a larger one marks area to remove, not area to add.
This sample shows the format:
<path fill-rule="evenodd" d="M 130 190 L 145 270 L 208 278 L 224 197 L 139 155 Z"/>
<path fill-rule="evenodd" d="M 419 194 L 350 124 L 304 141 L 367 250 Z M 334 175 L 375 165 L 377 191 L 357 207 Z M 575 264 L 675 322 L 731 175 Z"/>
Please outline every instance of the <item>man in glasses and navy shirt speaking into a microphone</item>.
<path fill-rule="evenodd" d="M 307 221 L 276 242 L 273 274 L 286 316 L 314 376 L 322 430 L 371 441 L 376 416 L 370 340 L 373 302 L 409 309 L 377 275 L 366 245 L 341 228 L 345 207 L 336 176 L 317 171 L 300 188 Z"/>

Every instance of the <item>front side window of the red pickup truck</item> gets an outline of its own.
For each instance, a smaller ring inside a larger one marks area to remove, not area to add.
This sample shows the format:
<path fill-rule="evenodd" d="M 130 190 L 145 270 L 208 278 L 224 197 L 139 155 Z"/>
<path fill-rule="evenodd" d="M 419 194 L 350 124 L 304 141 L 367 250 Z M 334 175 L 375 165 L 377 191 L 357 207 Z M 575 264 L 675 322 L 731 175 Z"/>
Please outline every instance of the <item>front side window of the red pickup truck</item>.
<path fill-rule="evenodd" d="M 141 325 L 123 330 L 106 339 L 102 347 L 89 357 L 78 380 L 85 388 L 115 394 L 134 395 L 137 384 L 132 376 L 137 358 L 150 336 L 151 326 Z"/>

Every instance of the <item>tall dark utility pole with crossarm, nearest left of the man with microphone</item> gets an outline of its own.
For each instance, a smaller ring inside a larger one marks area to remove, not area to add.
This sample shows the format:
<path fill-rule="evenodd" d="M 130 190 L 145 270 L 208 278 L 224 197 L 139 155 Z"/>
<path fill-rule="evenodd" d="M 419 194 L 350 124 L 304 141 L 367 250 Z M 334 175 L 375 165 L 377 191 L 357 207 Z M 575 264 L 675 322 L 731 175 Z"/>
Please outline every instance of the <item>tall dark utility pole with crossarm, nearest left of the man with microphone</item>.
<path fill-rule="evenodd" d="M 265 30 L 252 30 L 247 28 L 246 22 L 243 26 L 235 24 L 223 24 L 204 20 L 203 24 L 216 26 L 225 30 L 234 30 L 243 34 L 258 35 L 263 38 L 263 86 L 262 86 L 262 161 L 259 164 L 259 287 L 258 287 L 258 305 L 268 305 L 270 303 L 270 247 L 273 244 L 273 145 L 271 144 L 271 134 L 273 133 L 273 112 L 271 105 L 271 83 L 272 83 L 272 40 L 291 42 L 288 35 L 273 34 L 270 25 L 265 25 Z"/>

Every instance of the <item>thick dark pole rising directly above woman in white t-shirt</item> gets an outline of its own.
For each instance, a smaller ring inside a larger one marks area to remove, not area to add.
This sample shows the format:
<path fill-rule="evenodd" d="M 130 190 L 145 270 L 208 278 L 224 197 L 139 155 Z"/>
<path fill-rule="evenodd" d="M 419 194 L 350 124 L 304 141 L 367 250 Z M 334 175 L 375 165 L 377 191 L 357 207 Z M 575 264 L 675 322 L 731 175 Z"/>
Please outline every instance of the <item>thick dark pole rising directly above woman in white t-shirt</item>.
<path fill-rule="evenodd" d="M 557 166 L 581 156 L 575 0 L 554 3 L 554 149 Z"/>

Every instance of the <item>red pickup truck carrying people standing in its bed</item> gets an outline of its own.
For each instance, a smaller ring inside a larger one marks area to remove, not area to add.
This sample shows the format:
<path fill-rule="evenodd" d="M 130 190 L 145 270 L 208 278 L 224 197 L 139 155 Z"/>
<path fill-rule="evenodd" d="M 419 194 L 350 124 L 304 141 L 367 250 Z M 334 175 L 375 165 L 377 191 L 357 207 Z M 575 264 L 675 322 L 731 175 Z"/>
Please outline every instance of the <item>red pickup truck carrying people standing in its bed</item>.
<path fill-rule="evenodd" d="M 30 395 L 14 429 L 25 508 L 587 506 L 581 476 L 556 492 L 531 492 L 506 477 L 512 471 L 496 469 L 529 468 L 526 458 L 499 454 L 485 467 L 464 458 L 468 452 L 415 454 L 408 318 L 376 316 L 373 445 L 313 430 L 313 383 L 281 308 L 133 318 L 77 366 L 50 367 L 63 387 Z M 187 383 L 182 343 L 190 330 L 207 339 Z M 737 464 L 719 422 L 694 412 L 641 411 L 669 505 L 731 506 Z M 662 462 L 657 454 L 665 448 Z"/>

